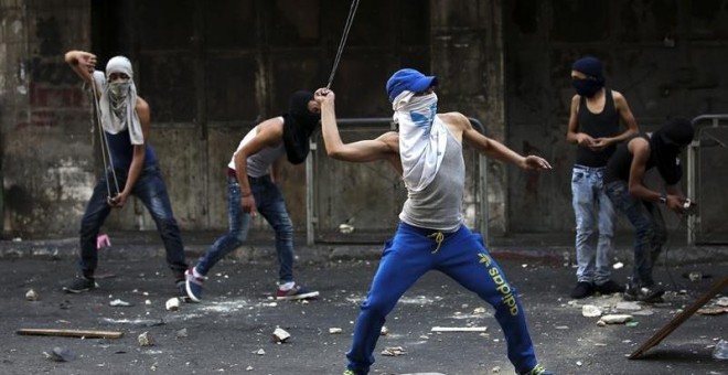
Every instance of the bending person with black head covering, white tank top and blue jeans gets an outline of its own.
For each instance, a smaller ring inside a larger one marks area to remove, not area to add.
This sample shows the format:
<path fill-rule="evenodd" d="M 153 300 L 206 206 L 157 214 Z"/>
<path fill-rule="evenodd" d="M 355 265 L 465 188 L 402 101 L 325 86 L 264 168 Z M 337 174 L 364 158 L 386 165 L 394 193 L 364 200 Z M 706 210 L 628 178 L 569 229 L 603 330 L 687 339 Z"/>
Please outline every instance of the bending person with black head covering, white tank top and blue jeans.
<path fill-rule="evenodd" d="M 256 211 L 276 232 L 280 267 L 276 299 L 298 300 L 319 296 L 318 291 L 293 281 L 293 225 L 275 178 L 283 157 L 293 164 L 306 160 L 309 137 L 321 117 L 320 108 L 321 105 L 313 100 L 313 93 L 296 92 L 287 114 L 260 122 L 240 141 L 227 164 L 229 232 L 217 238 L 197 265 L 185 272 L 185 288 L 192 301 L 201 301 L 202 285 L 212 267 L 243 245 L 250 216 L 255 216 Z"/>

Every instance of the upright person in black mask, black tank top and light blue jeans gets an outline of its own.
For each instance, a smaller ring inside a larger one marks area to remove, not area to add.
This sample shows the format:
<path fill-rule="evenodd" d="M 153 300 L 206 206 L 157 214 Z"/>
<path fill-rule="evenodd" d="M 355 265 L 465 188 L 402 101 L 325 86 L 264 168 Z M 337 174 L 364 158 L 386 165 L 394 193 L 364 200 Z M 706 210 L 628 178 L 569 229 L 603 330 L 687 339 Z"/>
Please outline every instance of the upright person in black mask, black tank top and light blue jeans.
<path fill-rule="evenodd" d="M 577 143 L 571 173 L 571 193 L 576 216 L 577 285 L 571 298 L 595 292 L 611 294 L 624 287 L 611 280 L 610 253 L 617 213 L 604 195 L 604 165 L 615 144 L 638 132 L 627 99 L 604 87 L 601 63 L 587 56 L 571 66 L 571 82 L 577 94 L 571 98 L 567 141 Z M 620 119 L 625 129 L 620 129 Z M 595 251 L 595 229 L 599 231 Z"/>

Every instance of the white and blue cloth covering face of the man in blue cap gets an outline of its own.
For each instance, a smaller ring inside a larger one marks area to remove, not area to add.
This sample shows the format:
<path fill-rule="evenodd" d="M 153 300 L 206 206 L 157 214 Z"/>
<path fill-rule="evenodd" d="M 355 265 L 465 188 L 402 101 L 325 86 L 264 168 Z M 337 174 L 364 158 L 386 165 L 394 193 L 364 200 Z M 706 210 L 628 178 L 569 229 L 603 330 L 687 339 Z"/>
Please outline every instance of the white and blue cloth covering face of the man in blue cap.
<path fill-rule="evenodd" d="M 392 103 L 393 119 L 399 124 L 399 157 L 403 180 L 411 192 L 427 188 L 440 169 L 447 129 L 437 115 L 435 93 L 415 96 L 405 90 Z"/>

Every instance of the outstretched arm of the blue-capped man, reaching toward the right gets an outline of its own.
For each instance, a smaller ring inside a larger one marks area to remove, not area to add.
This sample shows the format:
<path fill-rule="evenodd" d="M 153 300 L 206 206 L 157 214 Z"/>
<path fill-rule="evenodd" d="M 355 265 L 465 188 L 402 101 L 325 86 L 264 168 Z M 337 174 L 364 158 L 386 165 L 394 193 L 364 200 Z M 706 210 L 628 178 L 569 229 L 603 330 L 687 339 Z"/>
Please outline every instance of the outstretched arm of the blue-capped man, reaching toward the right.
<path fill-rule="evenodd" d="M 462 114 L 450 113 L 441 116 L 445 116 L 446 124 L 451 124 L 450 129 L 460 129 L 462 131 L 463 141 L 474 147 L 479 153 L 492 159 L 516 164 L 523 169 L 552 169 L 552 165 L 544 158 L 536 156 L 523 157 L 507 148 L 505 144 L 483 136 L 473 128 L 470 120 Z"/>

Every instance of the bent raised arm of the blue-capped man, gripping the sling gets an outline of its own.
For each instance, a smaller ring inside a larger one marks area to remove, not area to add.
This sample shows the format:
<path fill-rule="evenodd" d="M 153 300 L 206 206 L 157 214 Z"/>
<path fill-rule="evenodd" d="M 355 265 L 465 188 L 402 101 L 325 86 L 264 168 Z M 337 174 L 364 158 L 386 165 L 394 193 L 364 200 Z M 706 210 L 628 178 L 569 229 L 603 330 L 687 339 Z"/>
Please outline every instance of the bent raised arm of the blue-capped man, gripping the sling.
<path fill-rule="evenodd" d="M 402 173 L 399 138 L 396 132 L 389 131 L 376 139 L 344 143 L 336 125 L 335 94 L 330 89 L 319 88 L 314 99 L 321 104 L 321 132 L 329 158 L 351 162 L 389 160 Z"/>

